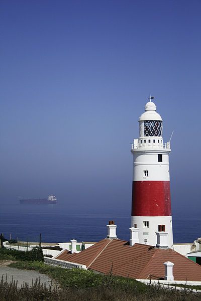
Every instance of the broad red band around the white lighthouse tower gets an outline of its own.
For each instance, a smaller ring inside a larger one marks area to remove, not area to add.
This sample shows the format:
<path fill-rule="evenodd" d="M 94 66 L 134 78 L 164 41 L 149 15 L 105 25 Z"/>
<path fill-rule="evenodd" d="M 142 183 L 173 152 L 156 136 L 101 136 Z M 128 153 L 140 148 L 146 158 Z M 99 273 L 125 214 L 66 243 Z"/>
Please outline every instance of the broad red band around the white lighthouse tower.
<path fill-rule="evenodd" d="M 171 215 L 169 181 L 134 181 L 132 216 Z"/>

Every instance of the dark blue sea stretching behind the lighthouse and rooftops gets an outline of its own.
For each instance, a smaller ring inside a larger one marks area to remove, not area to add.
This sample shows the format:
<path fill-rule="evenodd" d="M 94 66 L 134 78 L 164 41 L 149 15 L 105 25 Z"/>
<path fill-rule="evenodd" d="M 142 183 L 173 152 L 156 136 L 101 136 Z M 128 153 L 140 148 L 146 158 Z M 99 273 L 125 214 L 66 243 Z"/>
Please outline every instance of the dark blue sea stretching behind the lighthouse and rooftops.
<path fill-rule="evenodd" d="M 174 243 L 193 242 L 201 237 L 199 214 L 172 215 Z M 109 220 L 114 220 L 117 236 L 130 238 L 130 213 L 123 210 L 71 210 L 56 205 L 1 205 L 0 233 L 10 239 L 38 242 L 98 241 L 107 236 Z"/>

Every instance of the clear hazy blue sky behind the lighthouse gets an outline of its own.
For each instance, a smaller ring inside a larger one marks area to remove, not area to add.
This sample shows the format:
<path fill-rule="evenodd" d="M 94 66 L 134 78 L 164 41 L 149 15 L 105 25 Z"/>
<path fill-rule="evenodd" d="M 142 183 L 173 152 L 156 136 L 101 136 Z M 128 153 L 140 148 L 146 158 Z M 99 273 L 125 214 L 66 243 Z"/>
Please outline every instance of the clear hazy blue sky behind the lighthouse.
<path fill-rule="evenodd" d="M 131 210 L 149 94 L 172 130 L 174 214 L 200 212 L 201 2 L 0 2 L 0 204 Z"/>

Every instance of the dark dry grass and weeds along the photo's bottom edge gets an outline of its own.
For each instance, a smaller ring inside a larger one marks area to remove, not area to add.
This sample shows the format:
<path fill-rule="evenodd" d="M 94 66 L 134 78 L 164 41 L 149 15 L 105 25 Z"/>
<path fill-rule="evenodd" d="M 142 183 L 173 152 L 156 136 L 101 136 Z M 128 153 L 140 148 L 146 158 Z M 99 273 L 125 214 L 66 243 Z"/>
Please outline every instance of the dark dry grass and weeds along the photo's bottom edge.
<path fill-rule="evenodd" d="M 36 279 L 31 286 L 24 283 L 21 287 L 18 287 L 15 281 L 8 283 L 2 280 L 0 282 L 0 301 L 198 301 L 199 299 L 198 294 L 180 293 L 175 290 L 162 289 L 157 285 L 149 285 L 146 290 L 141 291 L 136 287 L 133 289 L 108 287 L 108 283 L 104 282 L 98 287 L 63 289 L 41 285 L 40 279 Z"/>

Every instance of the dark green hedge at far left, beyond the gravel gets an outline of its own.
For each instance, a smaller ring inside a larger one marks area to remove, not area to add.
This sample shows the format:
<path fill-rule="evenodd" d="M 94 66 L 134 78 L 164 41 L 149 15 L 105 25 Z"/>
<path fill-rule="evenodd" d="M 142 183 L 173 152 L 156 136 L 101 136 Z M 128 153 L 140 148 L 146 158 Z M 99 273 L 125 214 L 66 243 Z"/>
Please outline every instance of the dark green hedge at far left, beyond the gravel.
<path fill-rule="evenodd" d="M 43 250 L 41 247 L 34 247 L 31 251 L 23 252 L 3 247 L 0 249 L 0 260 L 43 261 Z"/>

